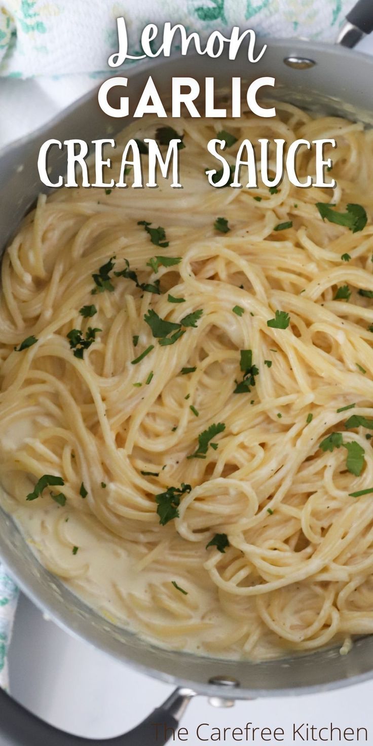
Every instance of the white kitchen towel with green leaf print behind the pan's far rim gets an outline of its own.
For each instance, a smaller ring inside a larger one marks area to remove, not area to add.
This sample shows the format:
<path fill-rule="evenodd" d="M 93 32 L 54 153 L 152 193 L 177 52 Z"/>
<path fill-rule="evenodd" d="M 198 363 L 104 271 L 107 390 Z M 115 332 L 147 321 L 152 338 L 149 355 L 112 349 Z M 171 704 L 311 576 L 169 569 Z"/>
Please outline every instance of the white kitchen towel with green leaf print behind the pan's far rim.
<path fill-rule="evenodd" d="M 1 2 L 1 0 L 0 0 Z M 150 22 L 182 23 L 205 39 L 233 26 L 272 37 L 333 40 L 354 0 L 3 0 L 0 75 L 30 78 L 110 71 L 116 18 L 124 16 L 129 53 L 140 54 Z"/>

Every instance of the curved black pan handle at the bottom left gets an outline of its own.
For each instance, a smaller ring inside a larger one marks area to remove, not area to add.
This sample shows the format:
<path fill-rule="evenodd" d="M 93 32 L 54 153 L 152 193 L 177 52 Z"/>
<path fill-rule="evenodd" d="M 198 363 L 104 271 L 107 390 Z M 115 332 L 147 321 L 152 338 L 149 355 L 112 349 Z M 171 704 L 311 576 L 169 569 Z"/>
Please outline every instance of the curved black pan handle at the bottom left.
<path fill-rule="evenodd" d="M 194 697 L 192 689 L 176 689 L 133 730 L 113 739 L 84 739 L 45 723 L 0 689 L 1 736 L 7 746 L 163 746 L 178 729 L 181 716 Z M 137 696 L 134 692 L 134 696 Z M 140 692 L 139 692 L 140 696 Z"/>

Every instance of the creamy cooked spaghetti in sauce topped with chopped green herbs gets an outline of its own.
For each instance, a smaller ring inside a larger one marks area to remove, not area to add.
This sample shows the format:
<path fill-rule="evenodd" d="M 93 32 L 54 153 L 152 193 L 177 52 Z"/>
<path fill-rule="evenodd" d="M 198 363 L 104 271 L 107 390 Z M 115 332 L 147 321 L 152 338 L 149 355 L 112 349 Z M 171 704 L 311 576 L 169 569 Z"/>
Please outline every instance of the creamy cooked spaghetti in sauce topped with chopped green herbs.
<path fill-rule="evenodd" d="M 336 137 L 334 191 L 214 189 L 178 119 L 184 189 L 40 196 L 2 262 L 3 504 L 117 624 L 251 659 L 373 631 L 373 225 L 316 207 L 372 214 L 373 131 L 278 111 L 224 129 Z"/>

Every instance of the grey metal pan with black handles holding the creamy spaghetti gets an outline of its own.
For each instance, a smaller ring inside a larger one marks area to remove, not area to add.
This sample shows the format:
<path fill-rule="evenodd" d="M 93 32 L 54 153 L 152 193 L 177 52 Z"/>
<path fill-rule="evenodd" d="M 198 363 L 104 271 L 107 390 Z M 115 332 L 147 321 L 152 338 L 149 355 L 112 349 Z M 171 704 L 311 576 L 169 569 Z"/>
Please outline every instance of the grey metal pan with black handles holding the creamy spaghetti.
<path fill-rule="evenodd" d="M 348 15 L 339 44 L 325 45 L 297 40 L 266 40 L 262 60 L 249 66 L 244 54 L 236 60 L 195 56 L 160 60 L 131 70 L 131 98 L 136 100 L 151 72 L 157 90 L 166 98 L 172 76 L 213 76 L 225 90 L 233 76 L 249 83 L 261 75 L 275 75 L 276 95 L 305 107 L 342 113 L 351 119 L 373 123 L 373 59 L 351 51 L 364 33 L 373 31 L 373 0 L 360 0 Z M 121 120 L 115 120 L 119 130 Z M 37 155 L 50 137 L 74 137 L 89 142 L 113 132 L 97 103 L 88 95 L 32 138 L 17 142 L 0 155 L 0 245 L 6 245 L 20 219 L 40 191 Z M 51 151 L 51 175 L 63 173 L 64 156 Z M 252 699 L 297 695 L 346 686 L 373 677 L 373 636 L 355 642 L 347 656 L 338 650 L 317 651 L 307 656 L 252 664 L 165 651 L 115 627 L 75 598 L 66 587 L 37 562 L 12 519 L 0 510 L 0 556 L 22 590 L 57 624 L 80 636 L 116 659 L 178 687 L 172 698 L 155 710 L 137 729 L 118 739 L 91 742 L 56 730 L 31 715 L 9 695 L 0 692 L 0 737 L 10 746 L 84 746 L 91 744 L 151 746 L 156 744 L 152 724 L 176 727 L 189 698 Z M 134 692 L 141 696 L 141 692 Z M 78 706 L 78 705 L 77 705 Z M 170 733 L 170 732 L 169 732 Z M 157 746 L 164 742 L 157 740 Z"/>

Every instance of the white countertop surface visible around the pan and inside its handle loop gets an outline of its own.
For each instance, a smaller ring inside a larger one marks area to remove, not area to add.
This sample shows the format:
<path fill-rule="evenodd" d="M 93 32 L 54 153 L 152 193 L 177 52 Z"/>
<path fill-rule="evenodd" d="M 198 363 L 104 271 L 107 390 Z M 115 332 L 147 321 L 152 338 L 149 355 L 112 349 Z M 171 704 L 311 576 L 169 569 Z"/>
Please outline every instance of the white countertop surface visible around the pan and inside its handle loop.
<path fill-rule="evenodd" d="M 373 54 L 373 39 L 364 40 L 360 49 Z M 42 125 L 96 84 L 81 75 L 0 80 L 0 110 L 7 115 L 0 120 L 0 147 Z M 9 663 L 10 686 L 17 699 L 57 727 L 93 738 L 116 736 L 134 727 L 172 690 L 70 637 L 45 621 L 26 598 L 21 598 L 16 613 Z M 201 722 L 242 727 L 247 721 L 260 727 L 283 727 L 289 734 L 286 746 L 292 742 L 294 721 L 318 727 L 330 722 L 339 727 L 367 727 L 373 744 L 372 701 L 373 681 L 297 699 L 240 702 L 232 709 L 215 709 L 205 698 L 195 698 L 183 725 L 194 733 L 189 746 L 202 743 L 195 737 Z M 230 736 L 221 742 L 236 743 Z M 1 736 L 0 745 L 6 746 Z"/>

